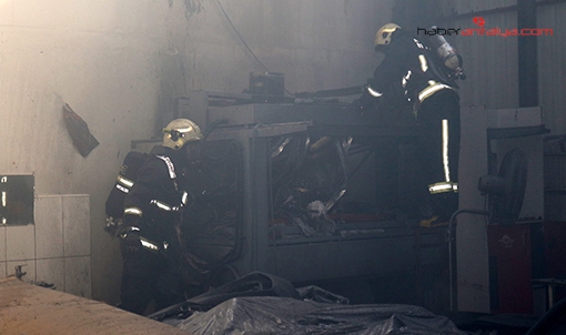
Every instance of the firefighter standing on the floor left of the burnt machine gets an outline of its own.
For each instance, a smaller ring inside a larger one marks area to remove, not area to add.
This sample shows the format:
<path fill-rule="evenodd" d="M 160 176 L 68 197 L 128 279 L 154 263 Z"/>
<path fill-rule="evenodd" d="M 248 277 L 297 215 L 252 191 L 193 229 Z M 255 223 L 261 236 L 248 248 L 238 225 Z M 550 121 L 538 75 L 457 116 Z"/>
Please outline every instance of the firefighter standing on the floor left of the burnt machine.
<path fill-rule="evenodd" d="M 120 308 L 142 314 L 151 301 L 161 309 L 184 300 L 180 273 L 181 211 L 189 202 L 183 169 L 203 139 L 188 119 L 171 121 L 163 142 L 141 165 L 124 199 L 119 236 L 123 258 Z"/>

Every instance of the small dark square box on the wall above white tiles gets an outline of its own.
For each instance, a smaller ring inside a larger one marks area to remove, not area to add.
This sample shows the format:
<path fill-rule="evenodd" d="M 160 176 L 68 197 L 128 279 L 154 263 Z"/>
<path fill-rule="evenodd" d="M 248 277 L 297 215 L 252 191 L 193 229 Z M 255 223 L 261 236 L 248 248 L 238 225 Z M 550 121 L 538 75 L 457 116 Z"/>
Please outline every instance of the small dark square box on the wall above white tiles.
<path fill-rule="evenodd" d="M 0 175 L 0 224 L 33 223 L 33 175 Z"/>

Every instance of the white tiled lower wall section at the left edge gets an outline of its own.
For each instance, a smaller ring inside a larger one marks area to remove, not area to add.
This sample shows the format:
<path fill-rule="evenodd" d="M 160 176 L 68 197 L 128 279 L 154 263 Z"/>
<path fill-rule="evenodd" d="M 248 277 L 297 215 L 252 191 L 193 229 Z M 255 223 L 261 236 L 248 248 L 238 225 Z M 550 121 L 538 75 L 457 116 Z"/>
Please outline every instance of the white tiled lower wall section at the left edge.
<path fill-rule="evenodd" d="M 0 278 L 22 265 L 23 281 L 91 297 L 90 196 L 36 196 L 36 223 L 0 227 Z"/>

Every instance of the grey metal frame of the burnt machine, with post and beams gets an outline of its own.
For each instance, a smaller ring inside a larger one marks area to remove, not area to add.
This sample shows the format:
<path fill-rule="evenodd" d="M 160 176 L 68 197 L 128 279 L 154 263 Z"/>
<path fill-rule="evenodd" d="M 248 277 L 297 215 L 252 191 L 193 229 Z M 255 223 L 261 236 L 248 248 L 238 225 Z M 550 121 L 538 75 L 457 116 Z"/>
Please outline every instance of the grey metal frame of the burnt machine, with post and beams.
<path fill-rule="evenodd" d="M 226 101 L 231 103 L 224 105 Z M 206 141 L 240 143 L 242 236 L 235 237 L 241 245 L 236 260 L 230 265 L 241 275 L 262 271 L 295 284 L 411 276 L 417 294 L 418 288 L 424 288 L 418 286 L 429 284 L 423 276 L 425 273 L 436 277 L 438 271 L 447 266 L 445 230 L 420 229 L 417 222 L 403 216 L 380 222 L 343 223 L 340 233 L 332 236 L 270 237 L 273 229 L 269 224 L 272 219 L 271 140 L 307 134 L 407 141 L 417 133 L 416 126 L 383 124 L 376 115 L 362 114 L 344 103 L 257 103 L 246 94 L 208 91 L 192 92 L 180 99 L 176 118 L 189 118 L 202 129 L 216 124 Z M 214 244 L 210 240 L 201 242 L 203 246 L 208 244 L 206 247 Z M 219 244 L 219 247 L 225 246 Z"/>

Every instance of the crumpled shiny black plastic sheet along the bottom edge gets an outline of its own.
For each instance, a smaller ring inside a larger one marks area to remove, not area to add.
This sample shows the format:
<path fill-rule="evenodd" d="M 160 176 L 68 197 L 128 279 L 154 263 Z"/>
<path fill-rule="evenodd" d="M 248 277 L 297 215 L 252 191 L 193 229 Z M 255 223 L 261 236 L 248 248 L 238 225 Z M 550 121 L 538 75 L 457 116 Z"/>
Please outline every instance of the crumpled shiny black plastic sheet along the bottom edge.
<path fill-rule="evenodd" d="M 444 316 L 413 305 L 337 305 L 290 297 L 234 297 L 166 322 L 190 334 L 465 335 Z"/>

